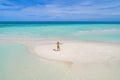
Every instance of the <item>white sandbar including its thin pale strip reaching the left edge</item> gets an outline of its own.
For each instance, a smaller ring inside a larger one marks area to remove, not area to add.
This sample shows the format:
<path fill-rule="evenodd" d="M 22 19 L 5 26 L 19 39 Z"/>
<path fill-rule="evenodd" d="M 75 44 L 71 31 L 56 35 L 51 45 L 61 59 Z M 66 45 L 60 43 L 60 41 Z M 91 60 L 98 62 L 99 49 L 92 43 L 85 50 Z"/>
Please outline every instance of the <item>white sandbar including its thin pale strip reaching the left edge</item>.
<path fill-rule="evenodd" d="M 54 51 L 57 41 L 52 39 L 0 39 L 0 43 L 25 44 L 31 53 L 45 59 L 72 63 L 120 61 L 120 44 L 60 40 L 61 51 Z"/>

